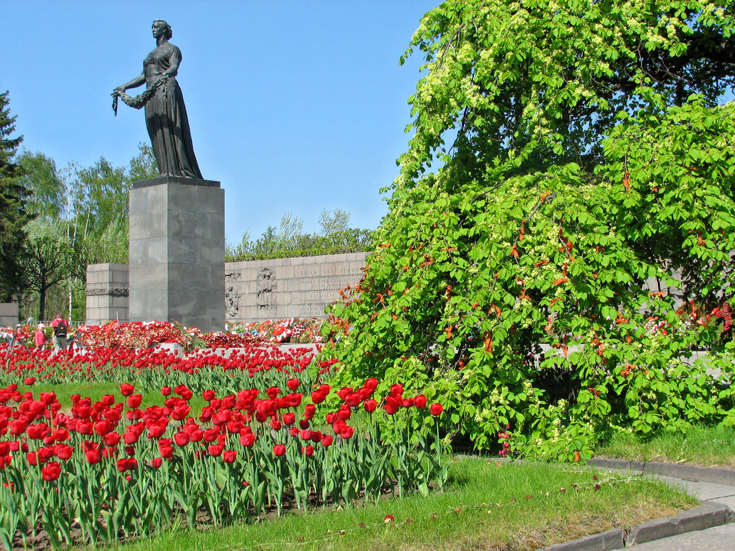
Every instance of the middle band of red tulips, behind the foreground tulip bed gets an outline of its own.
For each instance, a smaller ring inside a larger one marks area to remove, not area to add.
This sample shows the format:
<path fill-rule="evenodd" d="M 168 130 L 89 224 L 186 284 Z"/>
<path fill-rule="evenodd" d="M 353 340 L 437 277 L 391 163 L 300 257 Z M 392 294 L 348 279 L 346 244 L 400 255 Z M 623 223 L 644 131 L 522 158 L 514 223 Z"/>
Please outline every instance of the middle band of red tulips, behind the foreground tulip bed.
<path fill-rule="evenodd" d="M 4 359 L 5 353 L 7 345 L 1 344 L 0 358 Z M 288 351 L 245 347 L 229 353 L 198 350 L 182 355 L 149 348 L 98 348 L 73 353 L 16 348 L 7 369 L 5 363 L 0 366 L 0 385 L 32 379 L 34 383 L 51 384 L 130 382 L 143 391 L 179 384 L 186 384 L 196 393 L 206 389 L 234 393 L 250 386 L 265 391 L 268 386 L 284 385 L 292 377 L 312 384 L 320 375 L 331 372 L 335 361 L 312 365 L 314 355 L 315 351 L 306 347 Z"/>

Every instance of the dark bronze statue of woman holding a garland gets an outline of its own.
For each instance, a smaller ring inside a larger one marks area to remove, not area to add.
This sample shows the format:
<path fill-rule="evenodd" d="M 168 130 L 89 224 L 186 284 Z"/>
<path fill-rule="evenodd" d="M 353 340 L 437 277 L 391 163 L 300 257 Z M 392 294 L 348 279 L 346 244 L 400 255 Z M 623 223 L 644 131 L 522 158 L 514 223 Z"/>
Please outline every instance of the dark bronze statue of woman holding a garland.
<path fill-rule="evenodd" d="M 140 76 L 112 92 L 113 109 L 117 113 L 118 97 L 131 107 L 146 107 L 146 126 L 161 176 L 202 179 L 191 143 L 184 95 L 176 82 L 182 52 L 168 41 L 172 35 L 168 23 L 161 19 L 153 22 L 156 49 L 143 60 Z M 140 96 L 131 98 L 125 93 L 141 84 L 146 84 L 146 91 Z"/>

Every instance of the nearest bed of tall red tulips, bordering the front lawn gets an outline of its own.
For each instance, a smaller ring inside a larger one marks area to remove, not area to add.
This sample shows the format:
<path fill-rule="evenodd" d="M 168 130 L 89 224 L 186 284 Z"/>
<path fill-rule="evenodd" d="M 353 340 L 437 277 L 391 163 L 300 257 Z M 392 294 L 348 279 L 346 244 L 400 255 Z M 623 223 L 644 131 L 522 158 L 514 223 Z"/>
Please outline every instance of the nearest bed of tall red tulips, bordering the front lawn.
<path fill-rule="evenodd" d="M 442 406 L 404 397 L 400 385 L 376 400 L 377 386 L 370 379 L 334 393 L 322 384 L 306 400 L 297 378 L 265 392 L 207 389 L 198 417 L 184 385 L 163 388 L 163 406 L 143 408 L 136 388 L 123 383 L 121 399 L 74 396 L 69 414 L 53 392 L 21 395 L 7 386 L 0 541 L 25 547 L 41 533 L 59 549 L 145 535 L 175 519 L 218 526 L 373 499 L 394 487 L 427 494 L 431 480 L 441 485 L 447 476 L 434 422 Z"/>

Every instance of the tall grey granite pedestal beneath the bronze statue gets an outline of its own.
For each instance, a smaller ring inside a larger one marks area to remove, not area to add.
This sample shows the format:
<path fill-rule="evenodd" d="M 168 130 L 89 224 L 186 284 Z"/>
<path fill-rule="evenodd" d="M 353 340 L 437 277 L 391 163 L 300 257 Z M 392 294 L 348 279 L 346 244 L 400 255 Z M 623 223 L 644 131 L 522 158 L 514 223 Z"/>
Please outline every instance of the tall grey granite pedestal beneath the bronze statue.
<path fill-rule="evenodd" d="M 224 211 L 218 181 L 162 176 L 133 184 L 130 321 L 223 331 Z"/>

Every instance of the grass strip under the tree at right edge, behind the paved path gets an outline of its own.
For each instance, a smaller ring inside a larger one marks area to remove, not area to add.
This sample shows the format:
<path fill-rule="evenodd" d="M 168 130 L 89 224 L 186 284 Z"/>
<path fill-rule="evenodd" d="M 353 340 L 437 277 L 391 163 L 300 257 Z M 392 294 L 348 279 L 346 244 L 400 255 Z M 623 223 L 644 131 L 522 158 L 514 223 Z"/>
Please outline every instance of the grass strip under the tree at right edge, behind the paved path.
<path fill-rule="evenodd" d="M 732 469 L 735 427 L 691 427 L 685 433 L 667 432 L 651 439 L 621 434 L 598 447 L 595 456 Z"/>

